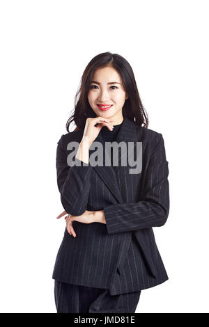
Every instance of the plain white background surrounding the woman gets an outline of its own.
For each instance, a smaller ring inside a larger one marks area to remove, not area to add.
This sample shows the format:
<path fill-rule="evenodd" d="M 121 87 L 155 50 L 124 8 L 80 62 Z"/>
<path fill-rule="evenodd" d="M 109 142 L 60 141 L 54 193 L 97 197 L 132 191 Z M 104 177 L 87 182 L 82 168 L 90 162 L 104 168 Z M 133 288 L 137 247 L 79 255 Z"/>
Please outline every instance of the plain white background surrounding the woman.
<path fill-rule="evenodd" d="M 207 6 L 1 1 L 1 312 L 56 312 L 56 145 L 86 65 L 105 51 L 132 65 L 169 161 L 169 218 L 153 228 L 169 280 L 142 290 L 136 312 L 209 312 Z"/>

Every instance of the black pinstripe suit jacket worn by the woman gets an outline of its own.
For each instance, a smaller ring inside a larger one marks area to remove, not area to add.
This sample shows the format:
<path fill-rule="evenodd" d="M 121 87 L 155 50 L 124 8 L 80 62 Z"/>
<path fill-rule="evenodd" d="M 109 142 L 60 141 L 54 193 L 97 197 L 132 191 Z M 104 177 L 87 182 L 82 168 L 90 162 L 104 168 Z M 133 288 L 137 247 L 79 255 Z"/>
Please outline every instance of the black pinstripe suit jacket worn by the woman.
<path fill-rule="evenodd" d="M 153 227 L 169 215 L 169 167 L 162 134 L 125 118 L 116 142 L 142 142 L 142 170 L 119 166 L 68 166 L 69 142 L 83 131 L 61 136 L 56 151 L 57 184 L 63 208 L 79 216 L 104 209 L 106 224 L 73 221 L 77 237 L 65 228 L 52 278 L 76 285 L 108 288 L 111 295 L 134 292 L 168 280 Z M 95 138 L 102 145 L 101 133 Z M 134 151 L 136 146 L 134 146 Z M 75 149 L 74 149 L 75 150 Z M 91 153 L 93 150 L 89 150 Z M 104 149 L 105 152 L 105 149 Z M 123 154 L 124 155 L 124 152 Z M 127 154 L 128 155 L 128 154 Z"/>

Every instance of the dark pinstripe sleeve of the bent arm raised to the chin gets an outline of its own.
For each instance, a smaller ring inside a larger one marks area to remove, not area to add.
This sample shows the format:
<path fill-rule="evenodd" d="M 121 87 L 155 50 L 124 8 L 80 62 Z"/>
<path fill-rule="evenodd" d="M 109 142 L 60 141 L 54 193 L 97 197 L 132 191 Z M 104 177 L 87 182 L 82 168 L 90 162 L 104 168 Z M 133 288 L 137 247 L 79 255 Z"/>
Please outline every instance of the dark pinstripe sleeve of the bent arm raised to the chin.
<path fill-rule="evenodd" d="M 75 166 L 69 166 L 64 135 L 61 136 L 57 144 L 56 175 L 57 185 L 61 193 L 61 203 L 65 212 L 73 216 L 80 216 L 86 211 L 93 166 L 76 157 Z"/>

